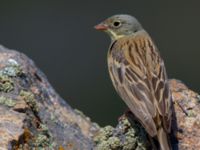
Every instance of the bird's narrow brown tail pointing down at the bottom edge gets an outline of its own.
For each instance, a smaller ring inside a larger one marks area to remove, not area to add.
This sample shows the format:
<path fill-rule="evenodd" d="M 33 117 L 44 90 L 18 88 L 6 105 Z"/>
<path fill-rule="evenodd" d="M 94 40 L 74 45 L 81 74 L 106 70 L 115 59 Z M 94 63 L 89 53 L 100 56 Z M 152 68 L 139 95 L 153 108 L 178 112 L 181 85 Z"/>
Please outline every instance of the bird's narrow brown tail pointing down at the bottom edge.
<path fill-rule="evenodd" d="M 172 150 L 169 135 L 163 128 L 158 130 L 157 136 L 160 150 Z"/>

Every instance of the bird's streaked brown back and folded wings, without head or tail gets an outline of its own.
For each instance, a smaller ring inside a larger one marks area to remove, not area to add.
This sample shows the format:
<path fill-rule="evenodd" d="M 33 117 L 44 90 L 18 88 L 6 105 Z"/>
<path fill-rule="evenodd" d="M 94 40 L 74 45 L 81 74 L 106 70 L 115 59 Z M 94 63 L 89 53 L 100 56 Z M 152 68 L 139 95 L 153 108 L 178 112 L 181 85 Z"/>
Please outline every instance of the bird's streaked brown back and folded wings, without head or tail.
<path fill-rule="evenodd" d="M 147 39 L 141 36 L 119 39 L 109 52 L 108 66 L 117 92 L 147 132 L 155 136 L 158 112 L 163 117 L 168 113 L 169 89 L 164 64 L 159 66 L 161 58 L 148 56 L 151 51 L 159 54 Z"/>

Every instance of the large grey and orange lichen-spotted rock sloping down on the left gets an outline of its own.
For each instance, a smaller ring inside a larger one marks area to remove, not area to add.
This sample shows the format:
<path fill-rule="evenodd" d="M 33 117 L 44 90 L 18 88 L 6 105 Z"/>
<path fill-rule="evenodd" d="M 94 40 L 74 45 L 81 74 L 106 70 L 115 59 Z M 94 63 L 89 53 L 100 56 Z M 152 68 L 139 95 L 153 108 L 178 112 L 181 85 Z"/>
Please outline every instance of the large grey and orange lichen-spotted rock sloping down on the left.
<path fill-rule="evenodd" d="M 0 46 L 0 149 L 88 150 L 98 130 L 25 55 Z"/>

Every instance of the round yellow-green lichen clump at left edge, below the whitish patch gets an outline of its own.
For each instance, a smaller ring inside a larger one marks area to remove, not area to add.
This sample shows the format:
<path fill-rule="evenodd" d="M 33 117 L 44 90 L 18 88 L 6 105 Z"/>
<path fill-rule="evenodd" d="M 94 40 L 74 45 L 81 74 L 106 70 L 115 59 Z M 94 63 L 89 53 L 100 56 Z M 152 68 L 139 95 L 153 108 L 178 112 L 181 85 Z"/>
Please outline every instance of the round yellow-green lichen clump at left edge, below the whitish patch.
<path fill-rule="evenodd" d="M 0 75 L 0 91 L 11 92 L 14 89 L 14 83 L 11 78 L 6 75 Z"/>

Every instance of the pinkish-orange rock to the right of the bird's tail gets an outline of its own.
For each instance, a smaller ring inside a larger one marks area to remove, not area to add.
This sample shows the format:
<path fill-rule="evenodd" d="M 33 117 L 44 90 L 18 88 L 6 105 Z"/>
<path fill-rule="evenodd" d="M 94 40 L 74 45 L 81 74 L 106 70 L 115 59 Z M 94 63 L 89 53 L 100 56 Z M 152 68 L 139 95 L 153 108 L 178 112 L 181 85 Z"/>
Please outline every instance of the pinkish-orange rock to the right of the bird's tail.
<path fill-rule="evenodd" d="M 173 131 L 180 150 L 200 149 L 200 96 L 181 81 L 170 80 L 175 117 Z"/>

